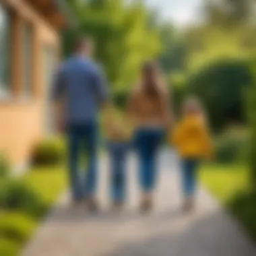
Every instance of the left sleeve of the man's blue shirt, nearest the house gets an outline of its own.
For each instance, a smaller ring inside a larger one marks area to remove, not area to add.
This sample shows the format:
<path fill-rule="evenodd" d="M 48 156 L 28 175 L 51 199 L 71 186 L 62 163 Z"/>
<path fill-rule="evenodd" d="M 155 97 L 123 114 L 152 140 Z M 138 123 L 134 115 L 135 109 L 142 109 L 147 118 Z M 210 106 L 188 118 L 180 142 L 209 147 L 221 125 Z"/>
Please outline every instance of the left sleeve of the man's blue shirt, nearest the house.
<path fill-rule="evenodd" d="M 63 68 L 60 67 L 53 75 L 52 95 L 53 101 L 59 100 L 65 92 L 65 79 Z"/>

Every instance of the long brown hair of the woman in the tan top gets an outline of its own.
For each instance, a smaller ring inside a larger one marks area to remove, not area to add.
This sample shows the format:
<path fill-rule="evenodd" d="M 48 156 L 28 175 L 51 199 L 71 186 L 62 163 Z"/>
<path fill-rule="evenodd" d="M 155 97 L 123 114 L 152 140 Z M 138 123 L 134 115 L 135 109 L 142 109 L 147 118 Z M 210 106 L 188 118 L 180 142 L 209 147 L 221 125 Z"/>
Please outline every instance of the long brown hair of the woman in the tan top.
<path fill-rule="evenodd" d="M 164 82 L 160 69 L 154 61 L 146 61 L 141 68 L 141 86 L 143 91 L 150 97 L 158 99 Z"/>

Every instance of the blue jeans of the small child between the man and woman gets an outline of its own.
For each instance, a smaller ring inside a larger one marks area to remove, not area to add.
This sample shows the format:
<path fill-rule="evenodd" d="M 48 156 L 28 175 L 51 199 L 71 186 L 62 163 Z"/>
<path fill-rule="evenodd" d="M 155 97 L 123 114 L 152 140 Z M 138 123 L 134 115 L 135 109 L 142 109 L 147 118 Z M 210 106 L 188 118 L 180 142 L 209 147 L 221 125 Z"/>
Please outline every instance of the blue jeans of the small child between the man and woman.
<path fill-rule="evenodd" d="M 108 141 L 111 183 L 110 197 L 116 202 L 123 202 L 126 196 L 127 151 L 127 143 Z"/>

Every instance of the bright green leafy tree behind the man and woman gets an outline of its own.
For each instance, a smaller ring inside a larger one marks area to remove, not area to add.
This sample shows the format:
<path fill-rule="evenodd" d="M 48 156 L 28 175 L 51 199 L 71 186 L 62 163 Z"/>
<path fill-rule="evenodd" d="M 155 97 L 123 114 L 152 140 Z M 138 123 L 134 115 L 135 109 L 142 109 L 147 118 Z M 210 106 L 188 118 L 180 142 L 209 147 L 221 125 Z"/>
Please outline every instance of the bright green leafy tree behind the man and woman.
<path fill-rule="evenodd" d="M 153 26 L 152 12 L 142 1 L 73 1 L 72 7 L 80 32 L 94 38 L 95 57 L 104 65 L 115 89 L 130 86 L 141 63 L 158 55 L 158 29 Z M 66 46 L 72 33 L 64 36 Z"/>

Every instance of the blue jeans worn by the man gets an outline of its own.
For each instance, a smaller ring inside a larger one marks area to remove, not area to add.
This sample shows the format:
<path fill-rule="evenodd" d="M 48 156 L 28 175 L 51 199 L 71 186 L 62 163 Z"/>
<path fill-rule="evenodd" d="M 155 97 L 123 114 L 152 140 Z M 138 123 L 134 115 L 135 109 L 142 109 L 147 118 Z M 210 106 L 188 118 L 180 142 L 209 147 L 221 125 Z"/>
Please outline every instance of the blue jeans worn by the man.
<path fill-rule="evenodd" d="M 96 122 L 83 125 L 68 125 L 69 181 L 73 199 L 94 196 L 97 174 L 97 125 Z M 79 173 L 79 157 L 84 154 L 88 168 Z"/>

